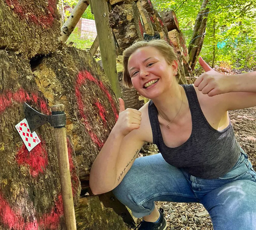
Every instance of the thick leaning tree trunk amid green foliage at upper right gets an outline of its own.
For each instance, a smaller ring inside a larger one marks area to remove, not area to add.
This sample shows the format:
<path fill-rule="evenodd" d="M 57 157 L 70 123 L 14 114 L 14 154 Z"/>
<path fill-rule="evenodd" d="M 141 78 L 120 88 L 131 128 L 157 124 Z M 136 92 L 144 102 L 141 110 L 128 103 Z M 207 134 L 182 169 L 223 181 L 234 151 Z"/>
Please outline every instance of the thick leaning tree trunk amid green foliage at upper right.
<path fill-rule="evenodd" d="M 196 17 L 193 35 L 188 46 L 188 63 L 191 66 L 192 71 L 194 71 L 198 55 L 204 42 L 206 22 L 209 13 L 209 8 L 207 8 L 207 4 L 208 0 L 204 0 L 201 5 L 200 11 Z"/>

